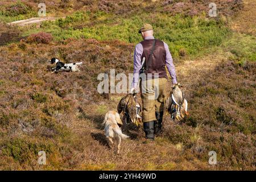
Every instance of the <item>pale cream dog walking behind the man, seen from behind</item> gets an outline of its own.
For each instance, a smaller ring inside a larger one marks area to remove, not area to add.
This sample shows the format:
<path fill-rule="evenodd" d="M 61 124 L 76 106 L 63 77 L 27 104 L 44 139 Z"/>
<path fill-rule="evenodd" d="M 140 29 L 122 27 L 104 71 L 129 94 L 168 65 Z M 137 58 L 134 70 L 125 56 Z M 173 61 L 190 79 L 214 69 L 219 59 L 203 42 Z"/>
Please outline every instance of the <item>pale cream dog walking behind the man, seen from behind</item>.
<path fill-rule="evenodd" d="M 108 111 L 102 125 L 105 125 L 104 131 L 109 145 L 117 145 L 117 154 L 120 152 L 121 139 L 129 138 L 129 136 L 122 134 L 122 130 L 118 124 L 122 125 L 120 115 L 116 111 Z"/>

